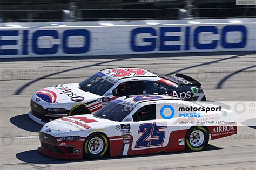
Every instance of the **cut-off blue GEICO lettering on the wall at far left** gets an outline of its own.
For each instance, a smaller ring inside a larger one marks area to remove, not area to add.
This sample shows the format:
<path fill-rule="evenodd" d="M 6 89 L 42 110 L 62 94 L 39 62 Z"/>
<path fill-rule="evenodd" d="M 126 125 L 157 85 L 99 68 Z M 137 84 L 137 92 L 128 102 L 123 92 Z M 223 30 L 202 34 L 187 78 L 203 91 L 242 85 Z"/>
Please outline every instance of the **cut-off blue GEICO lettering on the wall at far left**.
<path fill-rule="evenodd" d="M 16 37 L 15 37 L 16 36 Z M 73 41 L 79 39 L 79 41 Z M 11 38 L 12 40 L 6 40 Z M 84 54 L 90 49 L 90 32 L 86 29 L 1 30 L 0 55 Z M 83 40 L 83 41 L 81 41 Z M 19 45 L 17 48 L 17 45 Z M 8 49 L 12 46 L 11 49 Z M 78 46 L 78 47 L 77 47 Z"/>

